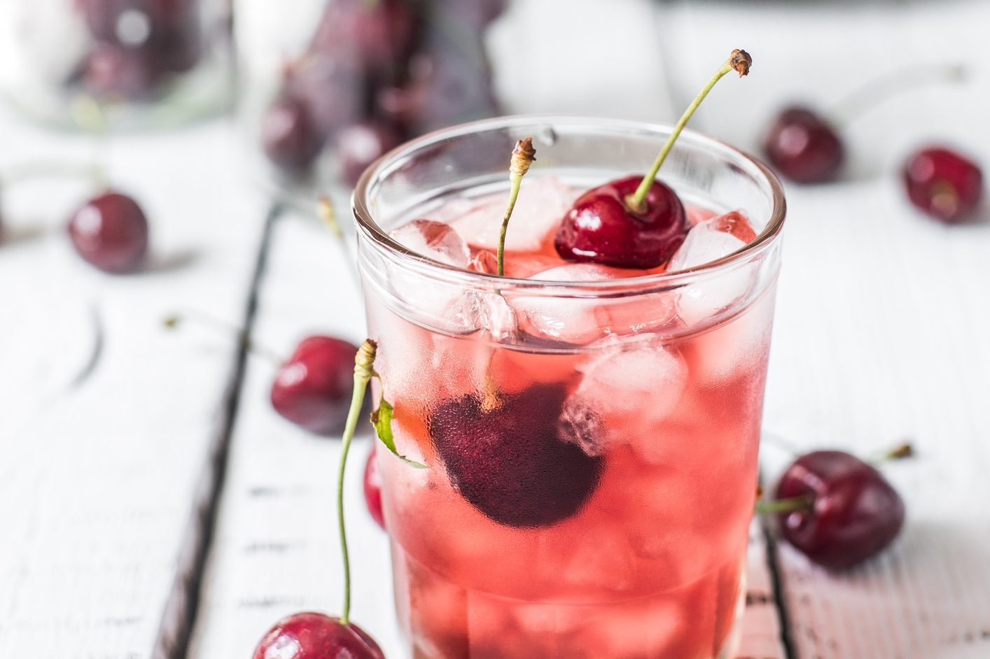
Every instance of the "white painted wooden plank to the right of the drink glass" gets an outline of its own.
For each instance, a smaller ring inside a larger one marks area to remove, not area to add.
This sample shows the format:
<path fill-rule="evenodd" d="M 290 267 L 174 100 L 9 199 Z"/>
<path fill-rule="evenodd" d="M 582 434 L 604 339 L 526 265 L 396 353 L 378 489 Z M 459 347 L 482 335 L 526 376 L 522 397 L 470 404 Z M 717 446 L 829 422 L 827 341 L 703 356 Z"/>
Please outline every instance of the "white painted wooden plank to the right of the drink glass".
<path fill-rule="evenodd" d="M 751 49 L 756 65 L 732 90 L 732 111 L 716 102 L 699 122 L 751 145 L 794 97 L 827 104 L 904 62 L 979 62 L 990 7 L 795 4 L 785 12 L 780 3 L 708 2 L 682 4 L 673 16 L 684 94 L 726 47 Z M 920 453 L 885 468 L 908 506 L 892 551 L 836 576 L 781 549 L 802 658 L 990 653 L 990 214 L 940 227 L 910 207 L 897 176 L 907 152 L 932 139 L 986 164 L 988 90 L 987 73 L 975 68 L 965 86 L 912 91 L 849 127 L 845 180 L 788 186 L 766 428 L 799 448 L 863 454 L 907 436 Z M 787 459 L 778 450 L 764 457 L 777 467 Z"/>

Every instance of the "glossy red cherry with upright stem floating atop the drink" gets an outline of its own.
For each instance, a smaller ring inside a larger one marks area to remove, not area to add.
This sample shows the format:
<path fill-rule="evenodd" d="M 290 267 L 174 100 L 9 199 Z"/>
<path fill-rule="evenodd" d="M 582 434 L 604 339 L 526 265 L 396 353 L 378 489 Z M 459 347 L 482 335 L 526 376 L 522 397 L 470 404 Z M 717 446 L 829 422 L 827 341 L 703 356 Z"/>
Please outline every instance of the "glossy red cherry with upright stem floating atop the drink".
<path fill-rule="evenodd" d="M 561 258 L 620 268 L 648 269 L 666 262 L 684 241 L 691 223 L 680 198 L 656 174 L 694 111 L 730 71 L 748 74 L 752 58 L 733 50 L 677 121 L 645 176 L 610 181 L 581 195 L 553 238 Z"/>

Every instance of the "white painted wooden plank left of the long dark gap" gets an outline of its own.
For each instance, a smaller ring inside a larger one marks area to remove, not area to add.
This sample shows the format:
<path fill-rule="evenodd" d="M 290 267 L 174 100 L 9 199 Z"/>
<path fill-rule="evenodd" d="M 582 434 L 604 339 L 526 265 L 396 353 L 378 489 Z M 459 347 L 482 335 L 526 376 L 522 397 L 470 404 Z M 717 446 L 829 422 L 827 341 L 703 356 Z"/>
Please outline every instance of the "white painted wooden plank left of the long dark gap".
<path fill-rule="evenodd" d="M 6 115 L 0 135 L 0 172 L 90 150 Z M 138 275 L 102 275 L 71 251 L 63 223 L 84 185 L 3 191 L 0 645 L 12 656 L 150 654 L 234 355 L 225 337 L 170 335 L 161 320 L 243 312 L 261 213 L 232 143 L 224 123 L 113 142 L 112 179 L 151 224 Z M 71 388 L 97 325 L 100 358 Z"/>

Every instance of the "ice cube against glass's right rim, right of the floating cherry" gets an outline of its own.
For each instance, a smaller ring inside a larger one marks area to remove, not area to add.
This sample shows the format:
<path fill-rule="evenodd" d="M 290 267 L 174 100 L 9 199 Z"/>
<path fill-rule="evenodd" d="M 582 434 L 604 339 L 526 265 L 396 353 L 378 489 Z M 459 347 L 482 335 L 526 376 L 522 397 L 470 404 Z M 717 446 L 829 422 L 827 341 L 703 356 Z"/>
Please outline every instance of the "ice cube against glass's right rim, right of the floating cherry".
<path fill-rule="evenodd" d="M 742 238 L 754 237 L 741 211 L 705 220 L 688 232 L 671 257 L 667 271 L 685 270 L 718 260 L 745 246 L 747 240 Z M 744 270 L 689 284 L 678 292 L 678 315 L 689 326 L 703 323 L 742 298 L 750 284 Z"/>

